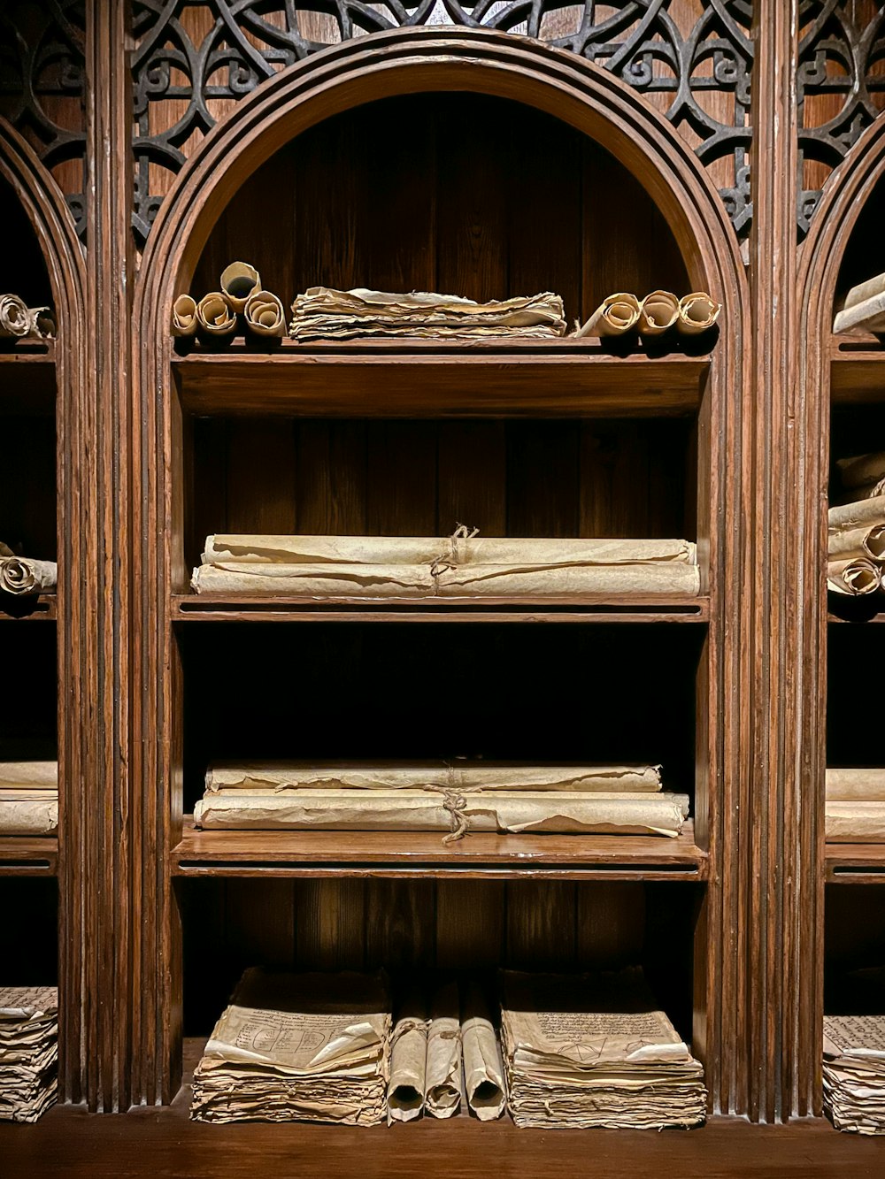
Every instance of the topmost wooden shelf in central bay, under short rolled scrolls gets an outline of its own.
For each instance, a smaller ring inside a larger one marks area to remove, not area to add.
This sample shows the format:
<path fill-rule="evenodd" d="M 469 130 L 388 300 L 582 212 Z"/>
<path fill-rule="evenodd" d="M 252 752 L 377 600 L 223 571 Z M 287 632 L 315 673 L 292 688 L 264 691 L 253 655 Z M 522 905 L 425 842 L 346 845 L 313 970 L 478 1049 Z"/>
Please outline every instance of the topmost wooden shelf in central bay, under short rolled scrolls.
<path fill-rule="evenodd" d="M 708 357 L 624 357 L 585 341 L 359 347 L 288 341 L 274 353 L 192 353 L 172 361 L 196 415 L 313 417 L 686 416 Z"/>

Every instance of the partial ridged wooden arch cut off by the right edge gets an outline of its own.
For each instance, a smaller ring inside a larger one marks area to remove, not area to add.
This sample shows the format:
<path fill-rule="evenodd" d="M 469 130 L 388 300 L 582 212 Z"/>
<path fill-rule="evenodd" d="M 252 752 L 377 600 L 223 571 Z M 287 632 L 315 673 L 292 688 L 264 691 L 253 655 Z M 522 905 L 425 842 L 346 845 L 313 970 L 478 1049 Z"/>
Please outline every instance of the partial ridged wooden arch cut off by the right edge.
<path fill-rule="evenodd" d="M 814 963 L 800 979 L 806 988 L 808 1034 L 802 1038 L 811 1054 L 805 1069 L 812 1079 L 809 1105 L 821 1109 L 820 1045 L 824 1017 L 824 771 L 826 769 L 826 560 L 827 482 L 830 475 L 830 363 L 833 304 L 839 269 L 866 202 L 885 177 L 885 117 L 879 117 L 858 139 L 832 173 L 799 258 L 801 413 L 796 420 L 796 446 L 804 466 L 795 521 L 804 538 L 802 567 L 808 584 L 796 594 L 802 634 L 796 639 L 805 659 L 796 660 L 799 685 L 801 838 L 806 862 L 814 865 L 808 890 L 796 911 L 804 914 L 798 931 L 806 942 L 804 961 Z"/>

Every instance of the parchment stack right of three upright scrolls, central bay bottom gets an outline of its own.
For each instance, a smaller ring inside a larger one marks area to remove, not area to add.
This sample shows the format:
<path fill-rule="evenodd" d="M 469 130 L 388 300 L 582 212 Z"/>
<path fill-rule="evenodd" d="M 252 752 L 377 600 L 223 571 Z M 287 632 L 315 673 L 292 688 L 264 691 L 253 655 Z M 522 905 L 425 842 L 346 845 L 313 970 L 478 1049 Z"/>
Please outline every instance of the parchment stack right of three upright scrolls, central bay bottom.
<path fill-rule="evenodd" d="M 699 1126 L 707 1091 L 641 970 L 584 977 L 505 973 L 502 1040 L 517 1126 Z"/>

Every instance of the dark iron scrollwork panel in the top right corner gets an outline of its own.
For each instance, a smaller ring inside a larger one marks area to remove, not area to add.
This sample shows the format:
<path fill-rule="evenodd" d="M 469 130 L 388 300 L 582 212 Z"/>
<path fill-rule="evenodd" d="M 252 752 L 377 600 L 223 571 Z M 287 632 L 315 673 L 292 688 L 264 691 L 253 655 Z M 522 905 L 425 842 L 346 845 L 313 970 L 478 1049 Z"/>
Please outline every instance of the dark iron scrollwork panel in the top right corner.
<path fill-rule="evenodd" d="M 804 0 L 800 26 L 796 220 L 805 235 L 827 176 L 885 108 L 885 6 Z"/>

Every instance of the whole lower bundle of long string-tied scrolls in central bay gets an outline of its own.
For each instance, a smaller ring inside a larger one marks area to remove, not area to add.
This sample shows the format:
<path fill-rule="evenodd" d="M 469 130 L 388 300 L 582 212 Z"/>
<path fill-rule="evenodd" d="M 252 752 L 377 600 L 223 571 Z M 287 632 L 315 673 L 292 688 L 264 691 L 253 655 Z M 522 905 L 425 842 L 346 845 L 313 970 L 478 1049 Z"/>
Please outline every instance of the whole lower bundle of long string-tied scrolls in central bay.
<path fill-rule="evenodd" d="M 194 821 L 205 829 L 586 832 L 676 836 L 688 796 L 657 765 L 485 762 L 264 762 L 210 766 Z"/>

